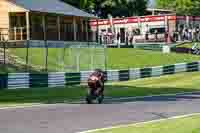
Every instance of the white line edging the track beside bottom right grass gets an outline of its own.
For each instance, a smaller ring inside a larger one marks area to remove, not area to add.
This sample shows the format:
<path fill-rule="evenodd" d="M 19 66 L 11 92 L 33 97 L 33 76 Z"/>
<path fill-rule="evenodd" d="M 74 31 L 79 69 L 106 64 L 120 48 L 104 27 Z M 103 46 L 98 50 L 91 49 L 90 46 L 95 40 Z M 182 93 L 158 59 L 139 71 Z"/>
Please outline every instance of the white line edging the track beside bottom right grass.
<path fill-rule="evenodd" d="M 92 129 L 92 130 L 78 132 L 78 133 L 92 133 L 92 132 L 109 130 L 109 129 L 126 128 L 128 126 L 137 126 L 137 125 L 142 125 L 142 124 L 150 124 L 150 123 L 156 123 L 156 122 L 161 122 L 161 121 L 166 121 L 166 120 L 186 118 L 186 117 L 196 116 L 196 115 L 200 115 L 200 113 L 193 113 L 193 114 L 187 114 L 187 115 L 174 116 L 174 117 L 169 117 L 169 118 L 166 118 L 166 119 L 158 119 L 158 120 L 152 120 L 152 121 L 147 121 L 147 122 L 139 122 L 139 123 L 129 124 L 129 125 L 119 125 L 119 126 L 106 127 L 106 128 L 100 128 L 100 129 Z"/>

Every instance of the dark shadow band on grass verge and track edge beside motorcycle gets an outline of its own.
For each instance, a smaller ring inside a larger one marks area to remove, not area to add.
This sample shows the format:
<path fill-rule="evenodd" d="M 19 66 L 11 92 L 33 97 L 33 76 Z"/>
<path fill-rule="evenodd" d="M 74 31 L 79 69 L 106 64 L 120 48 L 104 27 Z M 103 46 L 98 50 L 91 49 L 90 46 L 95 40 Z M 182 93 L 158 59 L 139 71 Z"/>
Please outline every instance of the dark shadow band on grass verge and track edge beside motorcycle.
<path fill-rule="evenodd" d="M 118 98 L 150 96 L 160 94 L 173 94 L 182 92 L 196 92 L 198 89 L 192 88 L 171 88 L 171 87 L 136 87 L 136 86 L 118 86 L 106 85 L 105 104 L 115 104 L 112 101 Z M 85 86 L 68 86 L 65 88 L 32 88 L 17 90 L 0 90 L 0 104 L 22 104 L 22 103 L 71 103 L 80 104 L 85 100 L 87 89 Z M 179 100 L 200 99 L 200 93 L 196 95 L 177 95 L 177 96 L 158 96 L 150 98 L 130 98 L 127 100 L 117 100 L 118 103 L 136 102 L 136 101 L 179 101 Z"/>

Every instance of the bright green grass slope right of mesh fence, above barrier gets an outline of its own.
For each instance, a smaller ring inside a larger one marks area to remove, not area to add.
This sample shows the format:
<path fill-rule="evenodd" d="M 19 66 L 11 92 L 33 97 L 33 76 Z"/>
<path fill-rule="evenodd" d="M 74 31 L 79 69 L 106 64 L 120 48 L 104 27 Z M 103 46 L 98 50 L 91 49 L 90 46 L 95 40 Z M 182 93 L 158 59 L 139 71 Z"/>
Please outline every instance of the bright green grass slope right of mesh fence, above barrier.
<path fill-rule="evenodd" d="M 143 68 L 159 65 L 198 61 L 200 56 L 187 54 L 163 54 L 135 49 L 108 49 L 108 68 Z"/>

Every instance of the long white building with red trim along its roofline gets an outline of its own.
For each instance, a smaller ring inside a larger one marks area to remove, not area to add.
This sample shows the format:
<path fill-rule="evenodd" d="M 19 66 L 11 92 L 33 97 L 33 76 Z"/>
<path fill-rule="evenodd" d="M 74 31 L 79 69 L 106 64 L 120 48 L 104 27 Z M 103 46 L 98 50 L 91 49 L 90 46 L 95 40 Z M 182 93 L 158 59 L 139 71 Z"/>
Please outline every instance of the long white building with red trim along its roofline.
<path fill-rule="evenodd" d="M 93 31 L 98 29 L 103 36 L 101 40 L 106 40 L 106 43 L 128 43 L 130 39 L 131 43 L 166 42 L 169 38 L 171 41 L 182 41 L 186 38 L 183 38 L 184 36 L 195 32 L 199 34 L 200 17 L 153 15 L 100 19 L 91 20 L 90 26 Z"/>

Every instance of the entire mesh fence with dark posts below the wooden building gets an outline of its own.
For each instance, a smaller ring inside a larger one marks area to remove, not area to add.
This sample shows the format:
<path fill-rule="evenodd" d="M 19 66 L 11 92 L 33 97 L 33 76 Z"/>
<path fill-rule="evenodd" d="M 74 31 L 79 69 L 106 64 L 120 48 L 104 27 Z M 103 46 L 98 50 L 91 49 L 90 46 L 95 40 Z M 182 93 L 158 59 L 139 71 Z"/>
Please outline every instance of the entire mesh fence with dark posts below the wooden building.
<path fill-rule="evenodd" d="M 3 49 L 0 59 L 3 64 Z M 104 48 L 9 48 L 6 64 L 24 71 L 79 72 L 105 69 Z"/>

